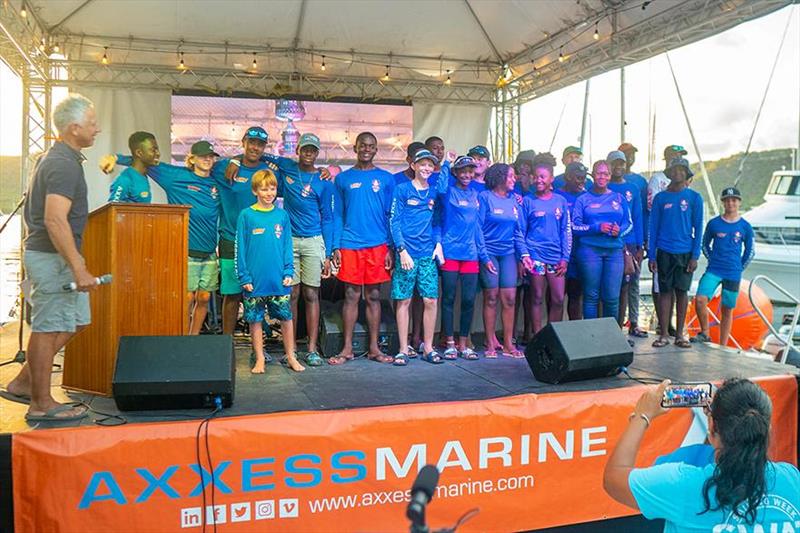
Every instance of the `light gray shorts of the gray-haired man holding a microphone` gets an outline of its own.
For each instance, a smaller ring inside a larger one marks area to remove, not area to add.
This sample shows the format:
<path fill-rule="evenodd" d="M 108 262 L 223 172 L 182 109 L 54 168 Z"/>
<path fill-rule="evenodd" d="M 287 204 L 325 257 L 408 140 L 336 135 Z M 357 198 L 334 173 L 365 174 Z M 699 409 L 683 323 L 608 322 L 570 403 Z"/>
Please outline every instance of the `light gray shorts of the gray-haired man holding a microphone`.
<path fill-rule="evenodd" d="M 73 333 L 91 322 L 89 294 L 63 289 L 75 279 L 59 254 L 25 250 L 23 260 L 31 283 L 31 331 Z"/>

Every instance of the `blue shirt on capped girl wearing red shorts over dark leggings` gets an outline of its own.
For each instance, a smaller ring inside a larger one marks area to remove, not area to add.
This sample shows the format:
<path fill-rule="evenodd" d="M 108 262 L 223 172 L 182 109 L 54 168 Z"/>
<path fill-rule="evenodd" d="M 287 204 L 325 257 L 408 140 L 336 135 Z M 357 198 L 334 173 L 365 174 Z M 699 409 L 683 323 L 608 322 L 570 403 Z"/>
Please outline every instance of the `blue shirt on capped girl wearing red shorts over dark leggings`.
<path fill-rule="evenodd" d="M 483 230 L 478 222 L 480 203 L 477 191 L 445 183 L 439 189 L 439 210 L 445 259 L 488 261 Z"/>

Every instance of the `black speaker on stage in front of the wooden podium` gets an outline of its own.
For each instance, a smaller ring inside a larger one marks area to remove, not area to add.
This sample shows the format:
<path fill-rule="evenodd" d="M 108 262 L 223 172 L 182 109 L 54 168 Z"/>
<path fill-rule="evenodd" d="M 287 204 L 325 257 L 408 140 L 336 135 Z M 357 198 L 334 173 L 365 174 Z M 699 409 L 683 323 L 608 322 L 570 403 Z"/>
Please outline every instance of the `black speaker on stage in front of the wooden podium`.
<path fill-rule="evenodd" d="M 122 337 L 111 390 L 120 411 L 230 407 L 235 374 L 230 335 Z"/>

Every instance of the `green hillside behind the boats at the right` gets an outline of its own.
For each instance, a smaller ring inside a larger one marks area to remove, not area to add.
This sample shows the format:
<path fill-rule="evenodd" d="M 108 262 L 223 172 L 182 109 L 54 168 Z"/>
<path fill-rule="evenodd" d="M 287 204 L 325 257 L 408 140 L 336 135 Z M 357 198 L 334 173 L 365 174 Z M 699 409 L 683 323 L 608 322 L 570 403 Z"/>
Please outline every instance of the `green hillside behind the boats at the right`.
<path fill-rule="evenodd" d="M 738 153 L 706 163 L 706 171 L 717 199 L 719 199 L 722 189 L 733 185 L 742 155 L 742 153 Z M 750 153 L 744 163 L 742 178 L 737 186 L 742 193 L 742 207 L 744 209 L 750 209 L 764 202 L 764 193 L 767 190 L 772 173 L 782 168 L 792 168 L 792 150 L 789 148 Z M 699 181 L 702 180 L 700 165 L 692 165 L 692 171 L 695 173 L 695 183 L 692 188 L 701 193 L 703 200 L 707 202 L 708 195 L 706 194 L 705 184 Z"/>

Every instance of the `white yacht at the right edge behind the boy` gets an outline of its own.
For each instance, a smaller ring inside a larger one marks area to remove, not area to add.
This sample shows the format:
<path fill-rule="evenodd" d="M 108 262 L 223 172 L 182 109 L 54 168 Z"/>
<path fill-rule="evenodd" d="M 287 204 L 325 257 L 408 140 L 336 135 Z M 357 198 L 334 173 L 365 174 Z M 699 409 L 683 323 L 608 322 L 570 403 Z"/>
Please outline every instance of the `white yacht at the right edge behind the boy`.
<path fill-rule="evenodd" d="M 744 277 L 763 274 L 800 297 L 800 170 L 773 172 L 764 203 L 743 216 L 756 241 L 756 255 Z M 762 288 L 774 302 L 786 301 L 768 285 Z"/>

